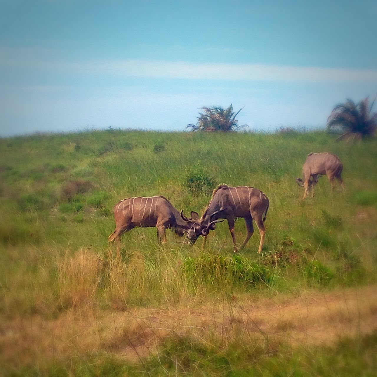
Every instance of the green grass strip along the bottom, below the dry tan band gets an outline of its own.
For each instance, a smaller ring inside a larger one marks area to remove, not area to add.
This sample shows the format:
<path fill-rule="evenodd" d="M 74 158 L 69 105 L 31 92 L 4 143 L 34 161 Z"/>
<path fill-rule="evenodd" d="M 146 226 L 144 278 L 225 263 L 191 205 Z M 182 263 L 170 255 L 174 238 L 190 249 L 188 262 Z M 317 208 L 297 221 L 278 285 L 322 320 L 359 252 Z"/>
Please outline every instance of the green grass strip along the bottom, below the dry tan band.
<path fill-rule="evenodd" d="M 49 362 L 12 376 L 374 376 L 377 367 L 377 334 L 360 339 L 343 338 L 334 346 L 292 347 L 279 339 L 233 340 L 229 343 L 198 342 L 171 337 L 157 355 L 124 362 L 106 354 L 74 356 L 65 362 Z"/>

